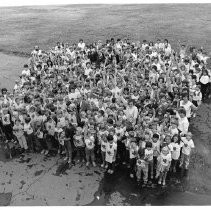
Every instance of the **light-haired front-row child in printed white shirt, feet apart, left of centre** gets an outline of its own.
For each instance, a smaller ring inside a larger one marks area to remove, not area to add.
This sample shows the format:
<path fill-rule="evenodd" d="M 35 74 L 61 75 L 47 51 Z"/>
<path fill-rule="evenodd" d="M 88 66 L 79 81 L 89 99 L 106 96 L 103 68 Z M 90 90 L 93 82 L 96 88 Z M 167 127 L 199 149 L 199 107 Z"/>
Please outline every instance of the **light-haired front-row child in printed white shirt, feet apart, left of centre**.
<path fill-rule="evenodd" d="M 90 164 L 90 159 L 92 162 L 92 165 L 96 167 L 95 163 L 95 154 L 94 154 L 94 146 L 95 146 L 95 139 L 94 136 L 91 135 L 90 132 L 87 132 L 87 135 L 85 137 L 85 152 L 86 152 L 86 166 L 88 167 Z"/>

